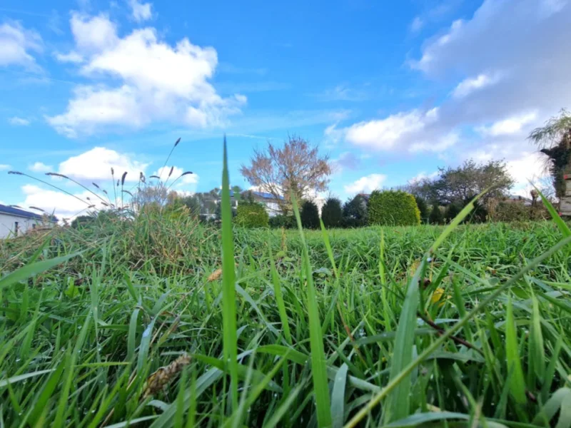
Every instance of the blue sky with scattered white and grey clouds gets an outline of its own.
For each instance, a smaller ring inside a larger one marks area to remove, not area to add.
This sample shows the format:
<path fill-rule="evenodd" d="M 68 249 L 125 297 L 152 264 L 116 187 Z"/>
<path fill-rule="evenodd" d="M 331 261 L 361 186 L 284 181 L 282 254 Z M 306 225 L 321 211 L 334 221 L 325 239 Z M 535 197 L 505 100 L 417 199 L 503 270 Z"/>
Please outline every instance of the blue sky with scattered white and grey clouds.
<path fill-rule="evenodd" d="M 132 187 L 179 137 L 173 188 L 208 191 L 225 133 L 242 188 L 254 149 L 295 135 L 343 200 L 469 158 L 525 193 L 544 174 L 527 135 L 571 107 L 570 40 L 567 0 L 4 0 L 0 203 L 73 217 L 89 193 L 46 172 Z"/>

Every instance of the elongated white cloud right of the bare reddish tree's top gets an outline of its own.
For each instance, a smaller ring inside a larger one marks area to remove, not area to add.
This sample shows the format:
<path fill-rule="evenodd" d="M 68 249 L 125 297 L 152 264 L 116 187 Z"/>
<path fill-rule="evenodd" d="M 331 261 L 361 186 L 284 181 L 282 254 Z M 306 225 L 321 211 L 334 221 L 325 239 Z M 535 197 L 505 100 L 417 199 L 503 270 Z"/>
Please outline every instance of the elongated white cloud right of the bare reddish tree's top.
<path fill-rule="evenodd" d="M 438 108 L 423 112 L 412 110 L 384 119 L 355 123 L 344 129 L 345 140 L 355 146 L 375 150 L 402 148 L 413 142 L 423 128 L 438 118 Z"/>

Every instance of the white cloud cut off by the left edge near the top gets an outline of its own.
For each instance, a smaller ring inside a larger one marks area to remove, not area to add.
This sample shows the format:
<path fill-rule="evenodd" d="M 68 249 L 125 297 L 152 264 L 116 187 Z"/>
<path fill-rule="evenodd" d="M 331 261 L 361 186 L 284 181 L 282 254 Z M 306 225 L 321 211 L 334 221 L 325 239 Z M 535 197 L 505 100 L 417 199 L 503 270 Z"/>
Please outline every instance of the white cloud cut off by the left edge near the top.
<path fill-rule="evenodd" d="M 18 22 L 0 25 L 0 66 L 22 66 L 28 71 L 40 72 L 31 51 L 41 52 L 42 41 L 35 31 L 24 29 Z"/>

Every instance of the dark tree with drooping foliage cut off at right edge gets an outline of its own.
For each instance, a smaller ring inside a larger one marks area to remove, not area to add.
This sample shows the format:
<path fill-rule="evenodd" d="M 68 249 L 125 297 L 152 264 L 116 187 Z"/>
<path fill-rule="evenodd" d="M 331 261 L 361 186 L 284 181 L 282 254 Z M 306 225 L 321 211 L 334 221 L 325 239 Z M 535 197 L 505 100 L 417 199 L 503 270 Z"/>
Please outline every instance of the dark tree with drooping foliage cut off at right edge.
<path fill-rule="evenodd" d="M 565 110 L 550 118 L 541 128 L 535 128 L 528 137 L 547 155 L 546 168 L 555 187 L 555 195 L 565 195 L 565 167 L 571 161 L 571 114 Z"/>

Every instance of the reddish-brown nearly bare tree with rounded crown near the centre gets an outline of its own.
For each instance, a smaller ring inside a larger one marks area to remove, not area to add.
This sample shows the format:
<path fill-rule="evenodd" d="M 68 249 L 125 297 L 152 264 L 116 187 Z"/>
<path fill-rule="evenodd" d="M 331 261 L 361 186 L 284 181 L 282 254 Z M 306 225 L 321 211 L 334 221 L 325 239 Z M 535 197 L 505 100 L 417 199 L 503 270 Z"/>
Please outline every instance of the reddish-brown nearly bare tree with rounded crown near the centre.
<path fill-rule="evenodd" d="M 293 136 L 282 148 L 268 143 L 265 150 L 254 151 L 251 165 L 242 165 L 240 172 L 248 183 L 271 193 L 287 215 L 292 208 L 290 192 L 300 201 L 326 190 L 331 167 L 329 156 L 320 156 L 318 146 Z"/>

